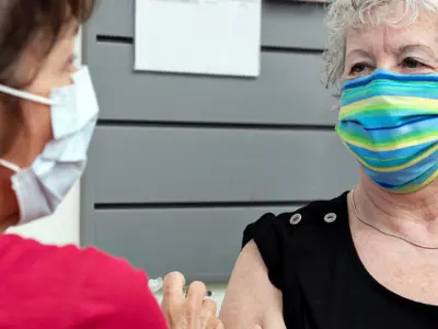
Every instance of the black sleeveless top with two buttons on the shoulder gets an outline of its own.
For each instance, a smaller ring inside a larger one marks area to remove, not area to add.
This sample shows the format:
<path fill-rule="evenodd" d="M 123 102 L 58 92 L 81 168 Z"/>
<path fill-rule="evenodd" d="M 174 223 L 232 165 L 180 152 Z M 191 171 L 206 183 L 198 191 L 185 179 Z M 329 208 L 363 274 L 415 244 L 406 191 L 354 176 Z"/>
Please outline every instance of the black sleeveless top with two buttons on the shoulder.
<path fill-rule="evenodd" d="M 347 193 L 293 213 L 265 214 L 244 231 L 283 292 L 290 329 L 437 329 L 438 307 L 404 298 L 365 269 L 348 225 Z"/>

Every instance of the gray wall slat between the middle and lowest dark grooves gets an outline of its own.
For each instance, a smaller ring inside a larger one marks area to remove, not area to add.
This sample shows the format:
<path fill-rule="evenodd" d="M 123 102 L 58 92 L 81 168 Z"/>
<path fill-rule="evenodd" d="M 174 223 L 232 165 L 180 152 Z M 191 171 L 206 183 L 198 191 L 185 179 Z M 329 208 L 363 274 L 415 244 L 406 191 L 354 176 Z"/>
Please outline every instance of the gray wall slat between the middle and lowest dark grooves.
<path fill-rule="evenodd" d="M 309 201 L 357 174 L 320 131 L 99 127 L 90 161 L 100 204 Z"/>

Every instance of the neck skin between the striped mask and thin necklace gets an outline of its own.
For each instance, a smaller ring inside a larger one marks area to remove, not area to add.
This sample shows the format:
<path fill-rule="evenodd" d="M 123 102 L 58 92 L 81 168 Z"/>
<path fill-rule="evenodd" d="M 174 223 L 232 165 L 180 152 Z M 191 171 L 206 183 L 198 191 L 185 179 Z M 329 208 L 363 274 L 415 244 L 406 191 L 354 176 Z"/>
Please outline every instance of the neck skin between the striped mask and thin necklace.
<path fill-rule="evenodd" d="M 438 181 L 415 193 L 397 194 L 381 189 L 362 173 L 355 203 L 359 216 L 380 228 L 416 240 L 438 240 Z"/>

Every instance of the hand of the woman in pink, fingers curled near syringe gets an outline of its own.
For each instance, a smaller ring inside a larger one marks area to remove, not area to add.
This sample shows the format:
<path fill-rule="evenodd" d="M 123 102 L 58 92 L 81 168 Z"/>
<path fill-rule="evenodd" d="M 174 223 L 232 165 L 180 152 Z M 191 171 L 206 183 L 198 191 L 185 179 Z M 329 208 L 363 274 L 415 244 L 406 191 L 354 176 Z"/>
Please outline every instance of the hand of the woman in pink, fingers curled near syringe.
<path fill-rule="evenodd" d="M 178 272 L 164 277 L 162 309 L 171 329 L 223 329 L 216 317 L 216 303 L 206 297 L 207 288 L 194 282 L 184 296 L 185 279 Z"/>

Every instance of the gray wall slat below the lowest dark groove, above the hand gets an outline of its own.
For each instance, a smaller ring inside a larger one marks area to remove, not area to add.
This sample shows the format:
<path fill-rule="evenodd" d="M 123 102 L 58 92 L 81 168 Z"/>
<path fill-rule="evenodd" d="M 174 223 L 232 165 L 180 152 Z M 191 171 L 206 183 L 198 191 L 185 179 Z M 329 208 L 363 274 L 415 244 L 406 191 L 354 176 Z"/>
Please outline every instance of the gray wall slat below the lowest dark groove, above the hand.
<path fill-rule="evenodd" d="M 266 212 L 293 209 L 97 211 L 95 242 L 115 256 L 128 258 L 135 266 L 147 269 L 151 277 L 178 270 L 188 282 L 220 282 L 231 273 L 247 224 Z"/>

